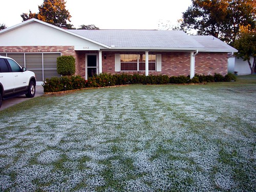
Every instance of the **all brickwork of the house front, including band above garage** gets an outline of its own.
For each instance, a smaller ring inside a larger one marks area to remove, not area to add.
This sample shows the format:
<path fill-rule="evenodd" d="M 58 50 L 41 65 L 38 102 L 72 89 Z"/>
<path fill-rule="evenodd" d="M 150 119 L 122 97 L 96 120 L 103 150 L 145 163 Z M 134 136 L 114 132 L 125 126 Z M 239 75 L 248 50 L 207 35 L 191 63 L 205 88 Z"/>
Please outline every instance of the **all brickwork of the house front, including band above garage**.
<path fill-rule="evenodd" d="M 62 55 L 73 55 L 76 59 L 76 74 L 85 78 L 86 74 L 86 53 L 96 53 L 98 51 L 74 51 L 73 46 L 20 46 L 20 47 L 0 47 L 0 52 L 61 52 Z M 102 52 L 102 72 L 103 73 L 129 73 L 145 74 L 145 71 L 115 72 L 115 53 L 120 54 L 145 54 L 145 52 Z M 106 59 L 104 59 L 106 54 Z M 159 54 L 159 52 L 149 52 L 149 54 Z M 162 71 L 149 71 L 149 74 L 165 74 L 168 76 L 189 75 L 190 74 L 190 52 L 162 52 Z M 195 73 L 204 75 L 214 75 L 220 73 L 227 74 L 227 53 L 198 53 L 195 57 Z"/>

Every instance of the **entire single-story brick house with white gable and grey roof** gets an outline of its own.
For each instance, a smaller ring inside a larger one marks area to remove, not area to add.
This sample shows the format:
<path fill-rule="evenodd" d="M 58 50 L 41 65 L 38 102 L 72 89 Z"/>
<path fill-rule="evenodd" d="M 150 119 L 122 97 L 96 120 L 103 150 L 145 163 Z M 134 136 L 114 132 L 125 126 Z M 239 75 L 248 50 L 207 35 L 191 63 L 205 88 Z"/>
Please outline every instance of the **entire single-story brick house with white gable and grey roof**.
<path fill-rule="evenodd" d="M 34 18 L 0 31 L 0 54 L 34 71 L 40 82 L 58 76 L 60 55 L 73 55 L 76 74 L 87 79 L 99 73 L 225 75 L 233 52 L 215 37 L 182 31 L 66 30 Z"/>

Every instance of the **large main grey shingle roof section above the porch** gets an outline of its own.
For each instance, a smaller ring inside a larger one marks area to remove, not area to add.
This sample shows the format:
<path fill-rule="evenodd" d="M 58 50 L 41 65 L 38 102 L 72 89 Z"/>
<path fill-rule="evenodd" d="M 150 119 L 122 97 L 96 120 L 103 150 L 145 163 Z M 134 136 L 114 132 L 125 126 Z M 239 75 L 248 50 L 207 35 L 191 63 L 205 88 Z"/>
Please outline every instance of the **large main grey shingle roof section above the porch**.
<path fill-rule="evenodd" d="M 169 50 L 204 50 L 198 41 L 183 31 L 159 30 L 69 30 L 75 34 L 122 48 L 158 48 Z"/>

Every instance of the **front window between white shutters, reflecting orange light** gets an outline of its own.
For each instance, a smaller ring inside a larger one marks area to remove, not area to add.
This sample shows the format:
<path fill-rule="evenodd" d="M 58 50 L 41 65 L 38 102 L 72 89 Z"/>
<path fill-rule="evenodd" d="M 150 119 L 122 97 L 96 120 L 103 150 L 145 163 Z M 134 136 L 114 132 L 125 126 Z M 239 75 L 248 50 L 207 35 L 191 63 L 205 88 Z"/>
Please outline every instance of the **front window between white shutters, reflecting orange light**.
<path fill-rule="evenodd" d="M 146 55 L 120 54 L 121 71 L 145 71 Z M 148 70 L 156 70 L 156 55 L 148 55 Z"/>

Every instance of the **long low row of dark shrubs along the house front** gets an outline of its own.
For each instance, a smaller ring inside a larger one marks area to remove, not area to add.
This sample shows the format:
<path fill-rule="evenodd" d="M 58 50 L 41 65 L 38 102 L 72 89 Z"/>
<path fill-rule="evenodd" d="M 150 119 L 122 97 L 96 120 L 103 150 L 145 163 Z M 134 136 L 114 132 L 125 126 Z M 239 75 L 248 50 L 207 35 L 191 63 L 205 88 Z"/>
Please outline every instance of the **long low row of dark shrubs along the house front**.
<path fill-rule="evenodd" d="M 212 75 L 195 75 L 192 79 L 189 76 L 172 76 L 167 75 L 139 75 L 139 74 L 107 74 L 101 73 L 85 80 L 81 76 L 62 76 L 47 78 L 42 87 L 44 92 L 58 92 L 75 90 L 82 88 L 96 88 L 117 86 L 122 84 L 184 84 L 184 83 L 200 83 L 200 82 L 222 82 L 236 80 L 236 76 L 229 73 L 225 76 L 220 74 Z"/>

